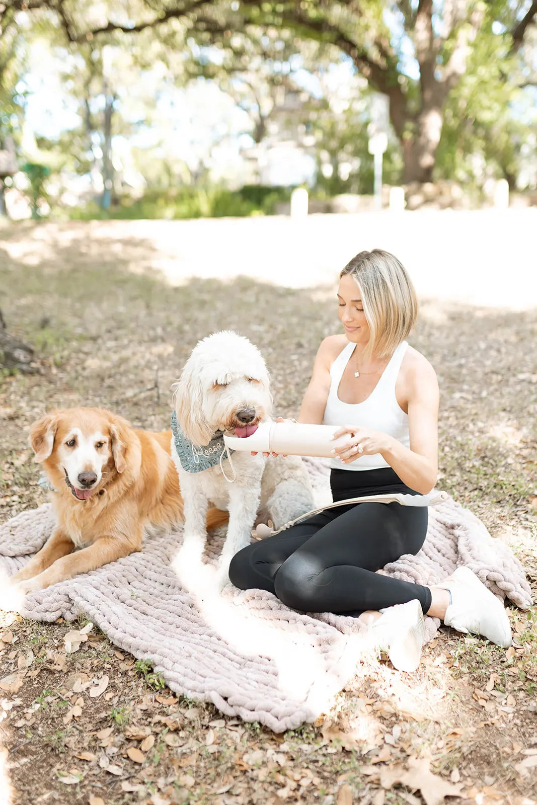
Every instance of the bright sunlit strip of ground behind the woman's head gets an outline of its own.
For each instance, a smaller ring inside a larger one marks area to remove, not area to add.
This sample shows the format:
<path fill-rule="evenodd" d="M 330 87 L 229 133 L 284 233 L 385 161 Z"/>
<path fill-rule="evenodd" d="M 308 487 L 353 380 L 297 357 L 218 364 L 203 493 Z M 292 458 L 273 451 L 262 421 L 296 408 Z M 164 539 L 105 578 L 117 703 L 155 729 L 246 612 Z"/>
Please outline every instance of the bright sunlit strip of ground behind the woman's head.
<path fill-rule="evenodd" d="M 0 229 L 0 249 L 27 266 L 56 247 L 117 257 L 171 285 L 247 275 L 284 287 L 332 286 L 363 249 L 392 251 L 420 295 L 506 309 L 537 305 L 528 268 L 537 210 L 268 216 L 192 221 L 45 221 Z"/>

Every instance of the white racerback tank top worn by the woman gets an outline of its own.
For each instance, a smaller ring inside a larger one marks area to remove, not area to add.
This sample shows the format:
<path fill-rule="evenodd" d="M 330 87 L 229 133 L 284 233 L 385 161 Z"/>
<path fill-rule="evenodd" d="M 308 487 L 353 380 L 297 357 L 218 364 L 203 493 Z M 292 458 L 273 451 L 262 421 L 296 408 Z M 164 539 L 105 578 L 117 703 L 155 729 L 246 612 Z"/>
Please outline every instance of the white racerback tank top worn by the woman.
<path fill-rule="evenodd" d="M 361 427 L 369 427 L 373 431 L 388 433 L 401 442 L 404 447 L 410 448 L 408 415 L 399 406 L 395 397 L 395 383 L 397 382 L 403 357 L 407 352 L 407 341 L 402 341 L 399 344 L 374 390 L 363 403 L 343 403 L 337 396 L 337 390 L 339 389 L 345 366 L 349 363 L 355 347 L 355 344 L 349 342 L 330 367 L 332 382 L 324 409 L 323 423 L 325 425 L 357 424 L 361 425 Z M 382 467 L 389 467 L 390 464 L 387 464 L 380 453 L 375 453 L 374 456 L 361 456 L 351 464 L 343 464 L 341 460 L 333 459 L 330 462 L 330 466 L 333 469 L 360 471 L 363 469 L 381 469 Z"/>

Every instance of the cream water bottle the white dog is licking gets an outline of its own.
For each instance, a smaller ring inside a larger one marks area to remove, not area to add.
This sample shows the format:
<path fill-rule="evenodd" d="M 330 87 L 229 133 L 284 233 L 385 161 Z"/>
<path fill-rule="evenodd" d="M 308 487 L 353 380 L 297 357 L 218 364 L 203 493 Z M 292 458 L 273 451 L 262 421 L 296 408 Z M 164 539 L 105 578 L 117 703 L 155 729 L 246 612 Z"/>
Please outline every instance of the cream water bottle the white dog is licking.
<path fill-rule="evenodd" d="M 333 441 L 338 425 L 306 425 L 292 422 L 263 422 L 251 436 L 236 436 L 225 431 L 224 442 L 230 450 L 275 452 L 286 456 L 333 458 L 333 449 L 350 442 L 345 434 Z"/>

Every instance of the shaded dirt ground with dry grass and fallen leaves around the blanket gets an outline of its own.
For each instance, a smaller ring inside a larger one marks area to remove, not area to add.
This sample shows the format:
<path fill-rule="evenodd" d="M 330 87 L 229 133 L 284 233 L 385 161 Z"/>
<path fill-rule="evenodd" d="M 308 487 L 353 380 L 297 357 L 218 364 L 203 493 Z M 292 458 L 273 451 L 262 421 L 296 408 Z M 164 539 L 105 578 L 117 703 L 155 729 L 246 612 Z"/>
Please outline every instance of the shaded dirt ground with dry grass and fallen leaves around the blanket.
<path fill-rule="evenodd" d="M 158 263 L 155 239 L 118 237 L 110 250 L 89 227 L 67 240 L 55 233 L 0 229 L 0 308 L 39 353 L 37 374 L 0 377 L 1 522 L 46 499 L 27 447 L 45 408 L 100 405 L 166 428 L 171 382 L 217 329 L 262 349 L 276 411 L 297 412 L 317 345 L 338 332 L 335 284 L 200 277 L 170 287 L 143 267 L 148 254 Z M 438 487 L 513 547 L 535 592 L 537 311 L 422 299 L 411 344 L 440 379 Z M 83 618 L 0 613 L 0 802 L 4 770 L 23 805 L 433 805 L 448 795 L 531 805 L 537 617 L 509 614 L 510 650 L 442 628 L 415 674 L 383 659 L 360 667 L 316 725 L 276 735 L 174 696 L 95 628 L 68 653 L 64 638 L 84 630 Z M 90 697 L 85 683 L 97 676 L 104 687 Z"/>

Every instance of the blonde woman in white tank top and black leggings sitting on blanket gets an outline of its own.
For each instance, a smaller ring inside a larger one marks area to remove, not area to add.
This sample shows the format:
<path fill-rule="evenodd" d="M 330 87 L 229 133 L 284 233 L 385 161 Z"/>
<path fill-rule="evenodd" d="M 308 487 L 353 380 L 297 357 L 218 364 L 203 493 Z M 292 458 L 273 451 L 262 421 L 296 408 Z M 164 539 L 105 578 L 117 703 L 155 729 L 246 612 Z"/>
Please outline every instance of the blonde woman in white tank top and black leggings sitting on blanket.
<path fill-rule="evenodd" d="M 432 365 L 405 341 L 417 315 L 411 279 L 392 254 L 362 251 L 341 271 L 337 300 L 345 332 L 320 345 L 299 413 L 299 422 L 341 425 L 334 439 L 350 435 L 334 449 L 333 500 L 426 494 L 436 482 L 439 390 Z M 419 664 L 423 613 L 510 646 L 504 606 L 468 568 L 432 588 L 375 572 L 418 553 L 427 526 L 425 507 L 338 506 L 239 551 L 229 578 L 293 609 L 360 617 L 403 671 Z"/>

